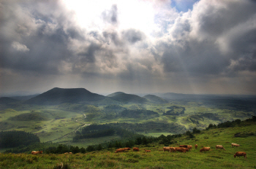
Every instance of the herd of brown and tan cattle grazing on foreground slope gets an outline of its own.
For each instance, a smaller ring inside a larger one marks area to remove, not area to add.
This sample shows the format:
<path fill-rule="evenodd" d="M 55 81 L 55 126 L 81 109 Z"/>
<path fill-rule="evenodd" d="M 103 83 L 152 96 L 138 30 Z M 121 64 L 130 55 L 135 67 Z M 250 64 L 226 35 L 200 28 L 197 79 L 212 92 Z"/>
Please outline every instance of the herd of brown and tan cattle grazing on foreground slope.
<path fill-rule="evenodd" d="M 240 146 L 239 144 L 231 144 L 231 146 Z M 224 147 L 222 145 L 217 145 L 215 146 L 216 149 L 224 149 Z M 123 148 L 123 149 L 116 149 L 116 153 L 118 152 L 127 152 L 129 151 L 131 148 L 127 147 L 127 148 Z M 180 145 L 179 147 L 172 147 L 172 146 L 164 146 L 163 147 L 163 151 L 167 151 L 167 152 L 189 152 L 192 149 L 192 145 Z M 195 144 L 195 149 L 197 149 L 197 144 Z M 200 152 L 210 152 L 211 147 L 203 147 L 202 149 L 200 149 Z M 139 152 L 139 148 L 138 147 L 133 147 L 132 148 L 133 152 Z M 151 150 L 146 150 L 144 149 L 145 152 L 151 152 Z M 226 150 L 226 149 L 224 149 Z M 31 152 L 31 154 L 42 154 L 42 151 L 33 151 Z M 72 152 L 66 152 L 64 154 L 72 154 Z M 240 156 L 244 156 L 244 158 L 246 159 L 246 152 L 236 152 L 236 154 L 234 154 L 234 157 L 240 157 Z"/>

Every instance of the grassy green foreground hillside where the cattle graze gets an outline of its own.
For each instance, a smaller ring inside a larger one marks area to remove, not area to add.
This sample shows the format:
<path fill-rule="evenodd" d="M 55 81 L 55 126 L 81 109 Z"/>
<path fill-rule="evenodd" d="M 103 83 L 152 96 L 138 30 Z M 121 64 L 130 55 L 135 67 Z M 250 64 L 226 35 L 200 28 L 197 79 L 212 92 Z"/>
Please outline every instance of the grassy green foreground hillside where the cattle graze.
<path fill-rule="evenodd" d="M 241 137 L 234 137 L 236 133 Z M 255 122 L 203 130 L 192 139 L 187 135 L 174 138 L 174 144 L 169 146 L 193 146 L 186 153 L 163 152 L 163 145 L 154 143 L 138 146 L 140 152 L 115 153 L 116 149 L 105 149 L 85 154 L 0 154 L 0 168 L 256 168 L 256 137 L 250 133 L 256 133 Z M 231 143 L 241 146 L 232 148 Z M 217 144 L 226 150 L 215 149 Z M 210 146 L 211 151 L 199 152 L 203 146 Z M 236 152 L 246 152 L 247 159 L 234 158 Z"/>

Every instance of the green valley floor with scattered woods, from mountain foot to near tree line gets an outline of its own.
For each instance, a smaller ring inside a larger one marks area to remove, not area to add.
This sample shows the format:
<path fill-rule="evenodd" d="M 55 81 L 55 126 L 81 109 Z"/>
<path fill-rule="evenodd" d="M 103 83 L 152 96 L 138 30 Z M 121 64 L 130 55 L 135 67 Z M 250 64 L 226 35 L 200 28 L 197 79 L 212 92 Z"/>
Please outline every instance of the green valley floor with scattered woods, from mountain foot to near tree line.
<path fill-rule="evenodd" d="M 234 109 L 230 104 L 196 101 L 170 101 L 169 103 L 62 103 L 58 106 L 8 104 L 0 106 L 0 130 L 22 130 L 35 133 L 41 142 L 88 146 L 101 144 L 113 138 L 91 138 L 72 142 L 75 132 L 91 124 L 116 124 L 146 136 L 185 133 L 194 127 L 203 130 L 208 125 L 235 119 L 247 119 L 252 110 Z M 127 110 L 129 116 L 121 112 Z M 183 111 L 184 110 L 184 111 Z M 140 113 L 141 114 L 137 114 Z M 151 114 L 154 112 L 154 114 Z M 151 114 L 151 115 L 148 115 Z M 135 116 L 135 117 L 133 117 Z"/>

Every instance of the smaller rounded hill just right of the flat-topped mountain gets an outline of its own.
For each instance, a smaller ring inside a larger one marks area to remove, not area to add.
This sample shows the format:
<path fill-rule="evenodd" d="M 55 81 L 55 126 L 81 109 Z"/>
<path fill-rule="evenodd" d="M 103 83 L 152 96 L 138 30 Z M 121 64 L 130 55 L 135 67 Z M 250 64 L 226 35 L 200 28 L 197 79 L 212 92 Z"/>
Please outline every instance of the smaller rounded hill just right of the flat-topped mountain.
<path fill-rule="evenodd" d="M 121 93 L 121 92 L 110 94 L 110 96 L 108 95 L 108 97 L 112 98 L 113 100 L 121 101 L 124 103 L 146 103 L 147 102 L 146 98 L 141 98 L 138 95 L 131 95 L 131 94 Z"/>

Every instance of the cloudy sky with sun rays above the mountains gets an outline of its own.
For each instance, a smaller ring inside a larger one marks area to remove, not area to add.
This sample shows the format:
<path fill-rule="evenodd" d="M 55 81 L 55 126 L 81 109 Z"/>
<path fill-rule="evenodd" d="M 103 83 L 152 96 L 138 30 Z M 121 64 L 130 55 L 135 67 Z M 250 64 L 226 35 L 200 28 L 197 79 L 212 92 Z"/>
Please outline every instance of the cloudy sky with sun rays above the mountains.
<path fill-rule="evenodd" d="M 254 0 L 0 0 L 0 95 L 256 95 Z"/>

